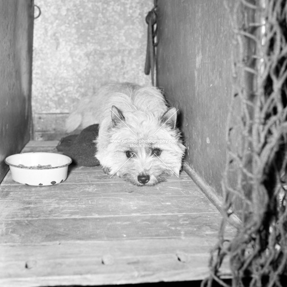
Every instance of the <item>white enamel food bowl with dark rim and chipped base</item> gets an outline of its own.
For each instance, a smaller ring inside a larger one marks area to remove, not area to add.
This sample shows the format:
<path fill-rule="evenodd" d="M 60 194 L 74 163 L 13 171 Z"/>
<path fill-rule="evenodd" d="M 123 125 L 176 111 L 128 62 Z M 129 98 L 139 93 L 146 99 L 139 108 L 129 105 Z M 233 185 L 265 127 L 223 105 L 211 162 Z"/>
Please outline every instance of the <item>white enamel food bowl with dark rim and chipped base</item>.
<path fill-rule="evenodd" d="M 26 152 L 13 154 L 5 159 L 12 179 L 26 185 L 55 185 L 67 178 L 72 159 L 51 152 Z"/>

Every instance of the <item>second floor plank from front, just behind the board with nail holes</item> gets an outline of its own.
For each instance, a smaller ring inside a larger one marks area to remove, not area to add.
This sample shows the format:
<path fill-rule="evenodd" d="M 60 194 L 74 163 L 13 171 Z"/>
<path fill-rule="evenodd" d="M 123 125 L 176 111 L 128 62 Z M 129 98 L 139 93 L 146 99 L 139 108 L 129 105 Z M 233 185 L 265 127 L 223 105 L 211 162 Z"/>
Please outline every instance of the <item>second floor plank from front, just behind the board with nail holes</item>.
<path fill-rule="evenodd" d="M 30 209 L 27 208 L 27 213 Z M 51 211 L 52 213 L 53 211 Z M 216 237 L 218 213 L 134 214 L 1 220 L 0 243 Z M 227 228 L 231 232 L 232 228 Z"/>

